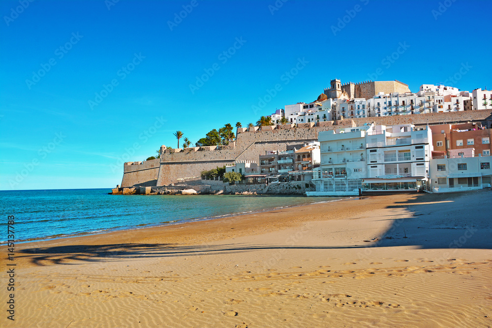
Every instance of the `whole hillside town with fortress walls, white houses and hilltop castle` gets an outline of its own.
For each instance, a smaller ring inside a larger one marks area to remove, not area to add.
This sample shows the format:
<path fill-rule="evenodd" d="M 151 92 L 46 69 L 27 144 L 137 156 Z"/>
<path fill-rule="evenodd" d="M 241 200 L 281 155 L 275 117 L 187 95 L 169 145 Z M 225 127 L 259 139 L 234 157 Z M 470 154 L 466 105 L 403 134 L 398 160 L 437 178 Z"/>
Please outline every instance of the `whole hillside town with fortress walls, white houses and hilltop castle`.
<path fill-rule="evenodd" d="M 424 84 L 412 93 L 397 80 L 335 79 L 315 101 L 285 105 L 246 128 L 238 122 L 227 145 L 162 146 L 155 160 L 125 163 L 122 187 L 221 181 L 230 192 L 241 185 L 235 193 L 261 193 L 297 182 L 307 196 L 487 188 L 491 103 L 492 91 L 482 89 Z M 142 178 L 142 170 L 154 176 Z"/>

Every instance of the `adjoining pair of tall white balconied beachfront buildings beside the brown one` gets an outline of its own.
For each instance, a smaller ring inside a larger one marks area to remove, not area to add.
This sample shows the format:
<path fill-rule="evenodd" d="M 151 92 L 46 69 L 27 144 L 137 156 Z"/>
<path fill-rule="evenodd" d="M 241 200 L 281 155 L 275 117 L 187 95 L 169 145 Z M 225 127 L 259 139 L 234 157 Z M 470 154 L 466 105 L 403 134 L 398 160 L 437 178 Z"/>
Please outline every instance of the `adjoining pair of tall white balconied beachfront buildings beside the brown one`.
<path fill-rule="evenodd" d="M 321 131 L 318 141 L 321 164 L 308 196 L 417 191 L 429 179 L 430 128 L 365 125 Z"/>

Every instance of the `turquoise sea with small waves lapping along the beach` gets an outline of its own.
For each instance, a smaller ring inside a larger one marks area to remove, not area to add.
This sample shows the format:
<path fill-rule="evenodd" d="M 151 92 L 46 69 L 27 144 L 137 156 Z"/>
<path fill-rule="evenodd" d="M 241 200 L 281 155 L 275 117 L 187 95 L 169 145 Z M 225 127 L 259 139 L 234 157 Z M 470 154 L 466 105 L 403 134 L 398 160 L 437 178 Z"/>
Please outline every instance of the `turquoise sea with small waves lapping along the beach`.
<path fill-rule="evenodd" d="M 0 191 L 4 231 L 15 216 L 15 239 L 29 241 L 212 219 L 270 209 L 330 202 L 336 197 L 235 195 L 108 195 L 111 189 Z M 138 233 L 136 231 L 135 233 Z"/>

